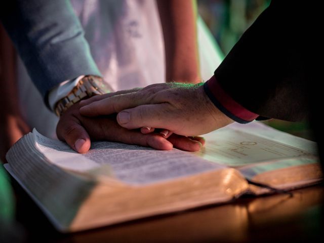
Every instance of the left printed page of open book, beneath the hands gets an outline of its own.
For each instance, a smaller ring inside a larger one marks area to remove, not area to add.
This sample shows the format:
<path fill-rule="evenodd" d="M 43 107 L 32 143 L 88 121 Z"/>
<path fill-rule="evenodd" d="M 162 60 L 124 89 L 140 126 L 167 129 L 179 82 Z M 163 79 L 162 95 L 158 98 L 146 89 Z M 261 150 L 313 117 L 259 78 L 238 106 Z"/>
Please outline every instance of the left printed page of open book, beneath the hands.
<path fill-rule="evenodd" d="M 133 185 L 226 168 L 178 149 L 162 151 L 115 142 L 93 142 L 87 153 L 79 154 L 66 143 L 44 137 L 36 130 L 33 134 L 36 146 L 53 164 L 78 172 L 109 166 L 111 174 L 106 176 Z"/>

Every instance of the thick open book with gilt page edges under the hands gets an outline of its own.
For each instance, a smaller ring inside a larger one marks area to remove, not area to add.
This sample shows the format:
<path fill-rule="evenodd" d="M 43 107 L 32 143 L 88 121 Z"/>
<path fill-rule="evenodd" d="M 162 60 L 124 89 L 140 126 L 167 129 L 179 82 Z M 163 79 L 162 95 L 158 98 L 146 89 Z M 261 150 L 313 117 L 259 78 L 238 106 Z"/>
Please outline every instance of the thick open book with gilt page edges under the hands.
<path fill-rule="evenodd" d="M 195 153 L 94 142 L 78 154 L 34 129 L 9 150 L 5 167 L 65 232 L 322 179 L 314 142 L 259 123 L 231 125 L 205 138 Z"/>

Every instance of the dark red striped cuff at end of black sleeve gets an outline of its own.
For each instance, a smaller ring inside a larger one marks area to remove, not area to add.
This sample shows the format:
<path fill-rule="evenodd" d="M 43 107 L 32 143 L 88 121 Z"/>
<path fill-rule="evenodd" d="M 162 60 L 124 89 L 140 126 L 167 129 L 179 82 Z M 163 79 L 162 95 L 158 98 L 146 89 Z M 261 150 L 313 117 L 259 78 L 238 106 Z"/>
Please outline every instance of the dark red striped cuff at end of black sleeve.
<path fill-rule="evenodd" d="M 214 105 L 229 118 L 237 123 L 246 124 L 256 119 L 255 114 L 233 100 L 218 84 L 215 76 L 212 76 L 205 84 L 204 90 Z"/>

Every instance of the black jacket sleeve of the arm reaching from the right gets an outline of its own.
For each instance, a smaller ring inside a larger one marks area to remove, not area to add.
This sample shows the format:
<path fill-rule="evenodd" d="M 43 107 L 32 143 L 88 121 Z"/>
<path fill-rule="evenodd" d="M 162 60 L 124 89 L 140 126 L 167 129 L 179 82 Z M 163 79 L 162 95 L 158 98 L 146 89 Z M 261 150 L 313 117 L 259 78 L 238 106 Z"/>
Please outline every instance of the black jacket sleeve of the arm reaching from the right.
<path fill-rule="evenodd" d="M 217 68 L 217 82 L 237 103 L 263 117 L 308 115 L 309 5 L 272 1 Z"/>

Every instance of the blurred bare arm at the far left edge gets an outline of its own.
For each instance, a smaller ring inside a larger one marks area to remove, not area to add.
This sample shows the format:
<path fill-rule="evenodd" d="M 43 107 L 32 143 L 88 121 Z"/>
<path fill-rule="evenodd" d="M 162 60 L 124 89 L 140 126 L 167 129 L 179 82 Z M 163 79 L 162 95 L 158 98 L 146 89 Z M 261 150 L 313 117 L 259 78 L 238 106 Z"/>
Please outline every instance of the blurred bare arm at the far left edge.
<path fill-rule="evenodd" d="M 0 159 L 6 161 L 8 149 L 30 132 L 18 104 L 16 52 L 0 24 Z"/>

